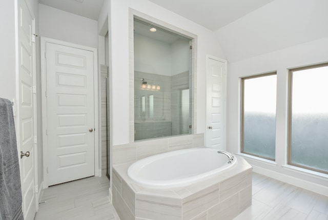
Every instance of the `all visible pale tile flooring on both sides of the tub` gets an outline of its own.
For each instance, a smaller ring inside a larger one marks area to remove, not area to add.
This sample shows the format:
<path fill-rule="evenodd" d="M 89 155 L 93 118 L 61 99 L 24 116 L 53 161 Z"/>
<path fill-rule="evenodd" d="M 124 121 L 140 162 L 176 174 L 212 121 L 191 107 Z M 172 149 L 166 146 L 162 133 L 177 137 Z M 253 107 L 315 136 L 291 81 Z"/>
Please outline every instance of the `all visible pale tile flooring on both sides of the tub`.
<path fill-rule="evenodd" d="M 35 220 L 119 220 L 109 203 L 107 177 L 90 177 L 44 190 Z M 253 173 L 253 205 L 234 220 L 328 220 L 328 197 Z M 169 219 L 168 219 L 169 220 Z"/>

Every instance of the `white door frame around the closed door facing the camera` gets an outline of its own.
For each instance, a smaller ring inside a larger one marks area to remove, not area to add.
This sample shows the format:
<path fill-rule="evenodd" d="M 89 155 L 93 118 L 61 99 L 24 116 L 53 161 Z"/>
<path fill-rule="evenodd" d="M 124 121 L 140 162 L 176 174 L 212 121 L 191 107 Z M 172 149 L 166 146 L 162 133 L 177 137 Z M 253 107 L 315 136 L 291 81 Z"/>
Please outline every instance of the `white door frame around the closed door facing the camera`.
<path fill-rule="evenodd" d="M 99 78 L 98 78 L 98 58 L 97 58 L 97 48 L 78 45 L 70 42 L 55 40 L 51 38 L 46 37 L 40 37 L 40 60 L 41 60 L 41 83 L 42 83 L 42 132 L 43 132 L 43 188 L 48 188 L 48 173 L 47 173 L 47 167 L 48 167 L 48 161 L 45 158 L 48 158 L 48 136 L 47 136 L 47 97 L 46 97 L 46 91 L 47 91 L 47 66 L 46 66 L 46 44 L 47 43 L 53 43 L 53 44 L 60 44 L 68 47 L 75 47 L 78 49 L 83 50 L 89 50 L 93 52 L 93 83 L 94 83 L 94 127 L 95 130 L 95 138 L 94 138 L 94 175 L 99 176 L 101 175 L 101 164 L 99 166 L 99 143 L 100 143 L 100 123 L 99 123 L 99 107 L 98 107 L 98 90 L 99 90 Z"/>

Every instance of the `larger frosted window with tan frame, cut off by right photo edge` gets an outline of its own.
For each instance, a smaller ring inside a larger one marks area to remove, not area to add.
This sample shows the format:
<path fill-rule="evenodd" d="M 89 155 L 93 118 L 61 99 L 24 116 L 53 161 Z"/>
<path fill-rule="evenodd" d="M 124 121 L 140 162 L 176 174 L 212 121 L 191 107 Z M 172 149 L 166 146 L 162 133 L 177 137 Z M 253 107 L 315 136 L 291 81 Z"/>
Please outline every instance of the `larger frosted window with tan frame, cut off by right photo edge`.
<path fill-rule="evenodd" d="M 328 173 L 328 64 L 290 70 L 288 163 Z"/>

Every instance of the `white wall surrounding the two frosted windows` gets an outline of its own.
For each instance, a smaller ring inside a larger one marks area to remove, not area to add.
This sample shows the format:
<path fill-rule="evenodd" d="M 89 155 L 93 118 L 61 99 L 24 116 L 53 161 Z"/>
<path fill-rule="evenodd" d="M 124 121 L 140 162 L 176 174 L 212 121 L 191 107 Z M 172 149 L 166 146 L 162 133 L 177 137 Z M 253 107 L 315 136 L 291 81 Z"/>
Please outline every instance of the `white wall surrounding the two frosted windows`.
<path fill-rule="evenodd" d="M 270 171 L 265 171 L 267 175 L 272 175 L 274 178 L 288 181 L 291 184 L 316 192 L 323 193 L 322 190 L 326 190 L 327 195 L 327 178 L 305 174 L 304 172 L 283 167 L 286 165 L 287 158 L 288 69 L 323 62 L 328 62 L 328 38 L 322 38 L 230 63 L 228 65 L 227 86 L 227 150 L 230 152 L 240 152 L 240 78 L 277 71 L 276 164 L 261 162 L 261 160 L 257 159 L 248 159 L 248 161 L 256 168 L 260 168 L 260 170 L 254 168 L 254 171 L 263 172 L 263 169 L 268 169 Z M 270 173 L 272 171 L 273 173 Z M 306 181 L 320 185 L 321 188 L 320 186 L 313 186 L 306 183 Z"/>

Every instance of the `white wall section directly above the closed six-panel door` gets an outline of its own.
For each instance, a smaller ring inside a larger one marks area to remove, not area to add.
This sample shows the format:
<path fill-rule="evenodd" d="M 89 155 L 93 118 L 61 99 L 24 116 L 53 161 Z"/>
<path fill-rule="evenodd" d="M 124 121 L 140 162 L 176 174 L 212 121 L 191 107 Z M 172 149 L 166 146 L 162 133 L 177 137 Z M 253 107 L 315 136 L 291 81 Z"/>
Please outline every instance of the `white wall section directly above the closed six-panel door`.
<path fill-rule="evenodd" d="M 40 36 L 98 47 L 98 23 L 76 14 L 39 4 Z"/>

